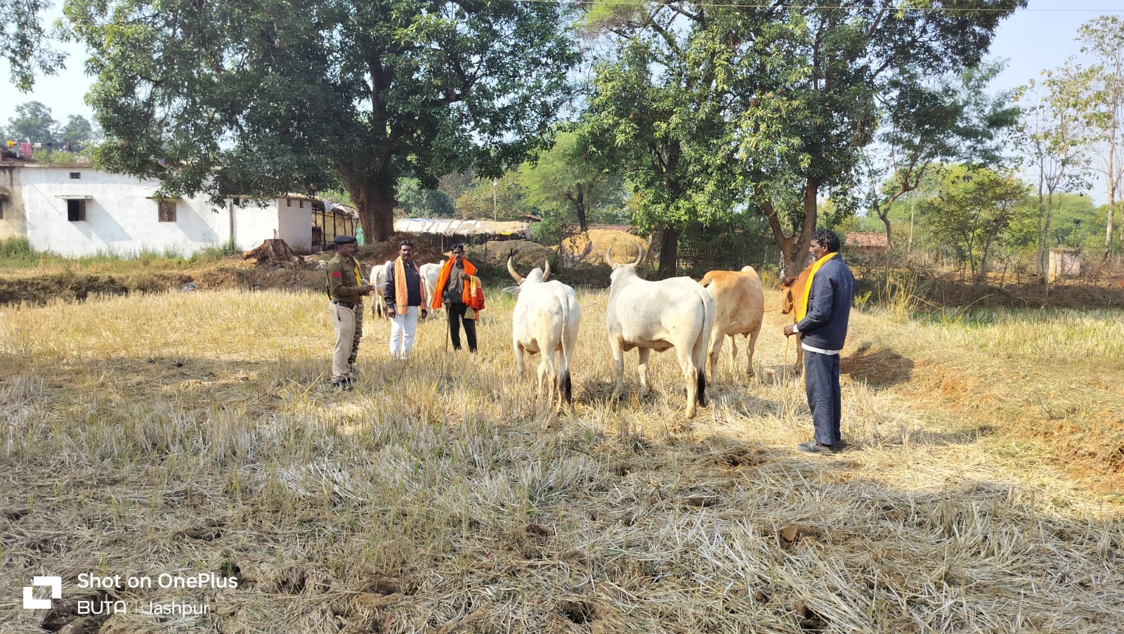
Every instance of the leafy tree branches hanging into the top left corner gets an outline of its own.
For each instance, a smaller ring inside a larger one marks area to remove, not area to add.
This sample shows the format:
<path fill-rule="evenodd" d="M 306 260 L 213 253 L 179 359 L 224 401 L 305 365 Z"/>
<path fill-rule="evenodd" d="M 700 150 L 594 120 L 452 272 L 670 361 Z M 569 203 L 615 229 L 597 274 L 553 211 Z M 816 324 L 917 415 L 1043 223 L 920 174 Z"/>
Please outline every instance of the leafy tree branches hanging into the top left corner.
<path fill-rule="evenodd" d="M 36 73 L 54 74 L 65 56 L 51 47 L 43 28 L 47 0 L 0 0 L 0 57 L 8 61 L 11 83 L 20 92 L 30 92 Z"/>

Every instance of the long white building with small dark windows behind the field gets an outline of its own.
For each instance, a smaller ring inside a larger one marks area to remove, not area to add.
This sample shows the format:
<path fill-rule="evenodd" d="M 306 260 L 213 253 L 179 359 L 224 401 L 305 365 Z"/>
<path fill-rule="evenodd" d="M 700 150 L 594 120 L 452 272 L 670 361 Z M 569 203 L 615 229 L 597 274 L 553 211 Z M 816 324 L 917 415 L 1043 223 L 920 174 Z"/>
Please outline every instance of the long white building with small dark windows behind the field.
<path fill-rule="evenodd" d="M 247 251 L 266 238 L 308 252 L 312 203 L 324 209 L 298 194 L 215 207 L 203 197 L 157 199 L 157 187 L 88 163 L 0 157 L 0 239 L 25 236 L 33 248 L 66 257 L 145 251 L 188 256 L 232 242 Z"/>

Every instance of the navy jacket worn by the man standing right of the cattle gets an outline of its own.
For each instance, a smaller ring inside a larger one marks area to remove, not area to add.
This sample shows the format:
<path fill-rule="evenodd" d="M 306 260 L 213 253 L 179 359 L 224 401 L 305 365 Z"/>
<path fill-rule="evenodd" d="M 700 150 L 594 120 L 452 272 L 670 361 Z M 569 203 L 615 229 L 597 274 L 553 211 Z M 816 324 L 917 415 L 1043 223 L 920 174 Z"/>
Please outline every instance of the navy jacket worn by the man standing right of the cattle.
<path fill-rule="evenodd" d="M 854 275 L 836 253 L 812 279 L 808 314 L 796 325 L 800 342 L 821 350 L 843 350 L 853 297 Z"/>

